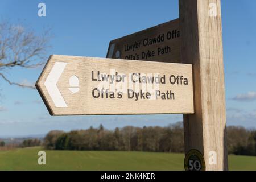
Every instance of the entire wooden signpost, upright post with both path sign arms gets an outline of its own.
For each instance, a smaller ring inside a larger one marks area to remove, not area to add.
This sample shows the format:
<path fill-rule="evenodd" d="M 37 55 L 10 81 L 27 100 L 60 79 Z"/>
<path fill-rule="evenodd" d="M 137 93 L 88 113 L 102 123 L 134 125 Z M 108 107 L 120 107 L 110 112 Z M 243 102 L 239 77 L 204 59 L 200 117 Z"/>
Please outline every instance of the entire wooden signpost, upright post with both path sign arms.
<path fill-rule="evenodd" d="M 51 56 L 36 88 L 51 115 L 182 113 L 185 169 L 227 170 L 220 0 L 179 0 L 179 10 L 110 41 L 113 59 Z"/>

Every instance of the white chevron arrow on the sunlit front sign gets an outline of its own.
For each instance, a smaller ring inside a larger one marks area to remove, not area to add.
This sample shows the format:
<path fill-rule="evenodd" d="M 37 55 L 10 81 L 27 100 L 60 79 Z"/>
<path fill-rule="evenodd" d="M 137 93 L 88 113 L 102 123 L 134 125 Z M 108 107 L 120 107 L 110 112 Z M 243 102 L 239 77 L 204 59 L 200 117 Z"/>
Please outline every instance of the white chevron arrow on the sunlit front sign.
<path fill-rule="evenodd" d="M 44 82 L 44 86 L 46 86 L 56 107 L 68 107 L 56 85 L 67 64 L 68 63 L 64 62 L 56 62 L 46 78 L 46 82 Z"/>

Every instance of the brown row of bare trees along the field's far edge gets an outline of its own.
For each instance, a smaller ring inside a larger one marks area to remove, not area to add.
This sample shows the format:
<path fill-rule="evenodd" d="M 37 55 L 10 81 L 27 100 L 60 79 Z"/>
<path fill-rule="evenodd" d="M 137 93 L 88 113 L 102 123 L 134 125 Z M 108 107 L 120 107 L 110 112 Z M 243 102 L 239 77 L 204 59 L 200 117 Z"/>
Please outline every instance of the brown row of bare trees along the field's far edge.
<path fill-rule="evenodd" d="M 227 137 L 229 154 L 256 155 L 256 130 L 229 126 Z M 70 132 L 53 130 L 44 138 L 43 146 L 48 150 L 184 152 L 183 123 L 115 130 L 106 130 L 102 125 Z"/>

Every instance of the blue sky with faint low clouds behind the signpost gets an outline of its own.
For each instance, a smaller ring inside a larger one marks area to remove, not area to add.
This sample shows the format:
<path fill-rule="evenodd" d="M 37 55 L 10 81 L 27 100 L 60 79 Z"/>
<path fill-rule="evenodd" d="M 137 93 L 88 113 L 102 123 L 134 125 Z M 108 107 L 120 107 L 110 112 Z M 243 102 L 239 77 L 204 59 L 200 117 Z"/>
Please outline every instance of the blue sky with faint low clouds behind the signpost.
<path fill-rule="evenodd" d="M 46 4 L 46 17 L 38 4 Z M 0 20 L 54 35 L 47 55 L 105 57 L 109 41 L 179 18 L 178 1 L 14 1 L 1 0 Z M 222 1 L 222 27 L 228 125 L 256 127 L 256 1 Z M 42 71 L 6 71 L 16 82 L 34 84 Z M 0 80 L 0 136 L 44 134 L 49 130 L 108 129 L 126 125 L 167 126 L 182 115 L 51 117 L 38 92 Z"/>

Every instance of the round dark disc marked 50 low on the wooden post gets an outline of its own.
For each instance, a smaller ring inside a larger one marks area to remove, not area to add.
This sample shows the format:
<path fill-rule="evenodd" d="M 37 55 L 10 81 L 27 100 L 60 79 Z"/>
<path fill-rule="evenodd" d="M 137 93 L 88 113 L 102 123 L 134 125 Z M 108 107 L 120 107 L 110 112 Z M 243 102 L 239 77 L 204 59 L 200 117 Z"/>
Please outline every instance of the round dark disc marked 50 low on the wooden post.
<path fill-rule="evenodd" d="M 185 171 L 205 171 L 204 156 L 200 151 L 192 149 L 187 152 L 184 159 Z"/>

